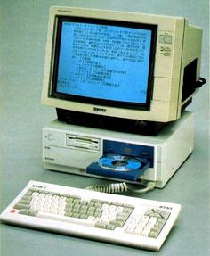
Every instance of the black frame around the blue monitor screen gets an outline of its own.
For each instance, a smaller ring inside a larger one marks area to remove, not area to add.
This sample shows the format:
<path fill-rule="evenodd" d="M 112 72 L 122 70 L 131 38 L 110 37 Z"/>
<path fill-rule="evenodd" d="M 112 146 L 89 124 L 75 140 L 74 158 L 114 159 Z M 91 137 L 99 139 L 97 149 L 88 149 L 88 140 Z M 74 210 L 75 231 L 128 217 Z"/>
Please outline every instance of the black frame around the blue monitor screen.
<path fill-rule="evenodd" d="M 85 97 L 78 95 L 70 95 L 63 94 L 57 92 L 57 78 L 58 78 L 58 69 L 59 69 L 59 54 L 61 48 L 61 28 L 62 22 L 71 21 L 71 22 L 85 22 L 91 24 L 102 24 L 109 26 L 119 26 L 126 28 L 134 28 L 134 29 L 148 29 L 151 31 L 151 42 L 150 42 L 150 52 L 149 52 L 149 76 L 148 76 L 148 90 L 146 96 L 146 103 L 130 103 L 130 102 L 121 102 L 121 101 L 112 101 L 105 100 L 93 97 Z M 158 25 L 153 24 L 143 24 L 132 21 L 114 21 L 114 20 L 106 20 L 99 18 L 86 18 L 79 16 L 55 16 L 55 26 L 54 26 L 54 47 L 53 47 L 53 60 L 52 60 L 52 84 L 50 90 L 48 92 L 48 96 L 52 98 L 56 98 L 59 100 L 65 100 L 69 102 L 77 102 L 77 103 L 88 103 L 92 105 L 100 105 L 100 106 L 108 106 L 108 107 L 117 107 L 117 108 L 125 108 L 125 109 L 134 109 L 134 110 L 142 110 L 149 111 L 150 103 L 152 99 L 153 92 L 153 83 L 154 83 L 154 64 L 155 64 L 155 54 L 156 54 L 156 44 L 157 44 L 157 31 Z"/>

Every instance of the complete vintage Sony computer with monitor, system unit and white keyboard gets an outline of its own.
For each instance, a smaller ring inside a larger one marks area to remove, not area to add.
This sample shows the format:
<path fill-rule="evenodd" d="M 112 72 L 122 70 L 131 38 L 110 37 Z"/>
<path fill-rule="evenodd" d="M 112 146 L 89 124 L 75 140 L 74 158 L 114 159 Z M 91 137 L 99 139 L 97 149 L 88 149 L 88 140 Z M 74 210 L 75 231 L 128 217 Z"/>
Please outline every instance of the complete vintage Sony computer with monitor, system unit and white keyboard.
<path fill-rule="evenodd" d="M 58 119 L 43 128 L 44 167 L 110 181 L 31 180 L 1 221 L 158 251 L 181 205 L 135 195 L 164 187 L 193 150 L 201 37 L 184 18 L 52 7 L 43 103 Z"/>

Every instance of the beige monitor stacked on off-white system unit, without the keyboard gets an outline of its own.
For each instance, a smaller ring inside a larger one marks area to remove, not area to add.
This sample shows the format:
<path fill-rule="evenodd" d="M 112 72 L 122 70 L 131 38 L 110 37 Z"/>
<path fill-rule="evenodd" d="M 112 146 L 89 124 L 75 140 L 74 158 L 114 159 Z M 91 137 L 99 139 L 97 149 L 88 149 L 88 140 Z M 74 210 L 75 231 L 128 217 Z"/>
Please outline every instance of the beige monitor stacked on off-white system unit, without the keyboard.
<path fill-rule="evenodd" d="M 164 187 L 193 150 L 201 41 L 182 17 L 52 7 L 44 167 Z"/>

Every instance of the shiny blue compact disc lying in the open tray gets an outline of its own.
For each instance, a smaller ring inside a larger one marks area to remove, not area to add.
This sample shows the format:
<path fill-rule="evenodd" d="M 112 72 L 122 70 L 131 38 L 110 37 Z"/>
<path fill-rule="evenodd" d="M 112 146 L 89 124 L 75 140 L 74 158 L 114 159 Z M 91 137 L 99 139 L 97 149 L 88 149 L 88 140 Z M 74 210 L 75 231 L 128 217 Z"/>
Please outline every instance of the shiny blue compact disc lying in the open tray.
<path fill-rule="evenodd" d="M 114 169 L 117 171 L 128 171 L 141 168 L 141 161 L 134 157 L 109 154 L 102 156 L 99 160 L 101 168 Z"/>

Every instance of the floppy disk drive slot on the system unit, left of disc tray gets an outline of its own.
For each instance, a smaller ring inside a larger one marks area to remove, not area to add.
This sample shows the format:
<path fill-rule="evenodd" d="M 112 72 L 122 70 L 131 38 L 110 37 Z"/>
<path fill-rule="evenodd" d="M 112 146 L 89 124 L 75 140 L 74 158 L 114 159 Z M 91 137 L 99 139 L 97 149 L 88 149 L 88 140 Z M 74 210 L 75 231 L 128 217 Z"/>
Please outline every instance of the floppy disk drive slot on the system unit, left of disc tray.
<path fill-rule="evenodd" d="M 88 136 L 66 135 L 66 145 L 75 148 L 100 151 L 100 139 Z"/>

